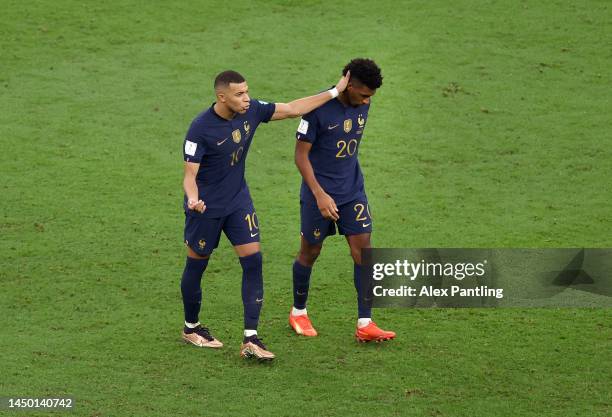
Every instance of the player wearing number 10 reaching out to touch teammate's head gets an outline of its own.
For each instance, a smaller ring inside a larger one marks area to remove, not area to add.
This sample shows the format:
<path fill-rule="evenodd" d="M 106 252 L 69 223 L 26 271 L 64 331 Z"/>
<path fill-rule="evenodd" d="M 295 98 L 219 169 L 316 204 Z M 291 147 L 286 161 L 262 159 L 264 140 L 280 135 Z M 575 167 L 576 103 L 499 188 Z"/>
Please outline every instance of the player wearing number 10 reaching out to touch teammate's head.
<path fill-rule="evenodd" d="M 251 99 L 242 75 L 224 71 L 215 78 L 217 101 L 191 123 L 184 141 L 185 244 L 187 261 L 181 280 L 185 313 L 182 338 L 200 347 L 223 344 L 199 322 L 201 280 L 221 231 L 230 240 L 242 266 L 244 340 L 242 357 L 272 360 L 257 336 L 263 302 L 259 223 L 244 178 L 245 160 L 260 123 L 298 117 L 344 91 L 350 74 L 336 86 L 290 103 Z"/>

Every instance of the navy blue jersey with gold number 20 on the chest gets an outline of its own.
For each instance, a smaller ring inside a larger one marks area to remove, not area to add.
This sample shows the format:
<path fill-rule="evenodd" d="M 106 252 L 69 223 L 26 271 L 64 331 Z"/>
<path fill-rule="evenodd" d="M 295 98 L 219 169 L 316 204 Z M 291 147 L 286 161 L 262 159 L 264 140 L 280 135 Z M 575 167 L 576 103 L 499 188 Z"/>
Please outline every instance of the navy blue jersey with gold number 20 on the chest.
<path fill-rule="evenodd" d="M 306 114 L 298 126 L 297 140 L 312 143 L 308 157 L 315 177 L 337 205 L 365 196 L 357 155 L 369 109 L 369 104 L 344 106 L 336 98 Z M 303 180 L 300 198 L 316 204 Z"/>

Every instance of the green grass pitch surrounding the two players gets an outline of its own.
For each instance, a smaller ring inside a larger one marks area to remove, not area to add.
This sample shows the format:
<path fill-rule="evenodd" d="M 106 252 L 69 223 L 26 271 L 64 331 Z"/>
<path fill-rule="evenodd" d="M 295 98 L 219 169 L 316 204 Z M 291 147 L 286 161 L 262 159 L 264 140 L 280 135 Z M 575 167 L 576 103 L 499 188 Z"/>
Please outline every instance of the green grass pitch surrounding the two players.
<path fill-rule="evenodd" d="M 179 343 L 178 284 L 182 140 L 214 75 L 288 101 L 356 56 L 385 76 L 360 153 L 376 246 L 612 246 L 611 19 L 593 0 L 4 1 L 0 396 L 71 395 L 75 416 L 610 415 L 609 309 L 376 311 L 398 339 L 357 345 L 340 238 L 312 277 L 321 336 L 293 336 L 295 120 L 260 127 L 247 163 L 277 362 L 238 358 L 227 241 L 203 305 L 223 350 Z"/>

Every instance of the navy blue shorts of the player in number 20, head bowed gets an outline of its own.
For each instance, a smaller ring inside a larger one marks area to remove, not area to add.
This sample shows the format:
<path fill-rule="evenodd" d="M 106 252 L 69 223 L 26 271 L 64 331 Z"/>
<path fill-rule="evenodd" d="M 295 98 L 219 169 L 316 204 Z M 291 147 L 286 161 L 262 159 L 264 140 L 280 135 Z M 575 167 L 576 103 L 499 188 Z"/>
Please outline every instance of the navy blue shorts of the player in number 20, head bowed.
<path fill-rule="evenodd" d="M 372 233 L 372 216 L 366 196 L 338 206 L 340 218 L 328 220 L 321 215 L 316 205 L 300 202 L 302 236 L 310 243 L 322 243 L 327 236 L 336 234 L 336 226 L 341 235 L 351 236 Z"/>

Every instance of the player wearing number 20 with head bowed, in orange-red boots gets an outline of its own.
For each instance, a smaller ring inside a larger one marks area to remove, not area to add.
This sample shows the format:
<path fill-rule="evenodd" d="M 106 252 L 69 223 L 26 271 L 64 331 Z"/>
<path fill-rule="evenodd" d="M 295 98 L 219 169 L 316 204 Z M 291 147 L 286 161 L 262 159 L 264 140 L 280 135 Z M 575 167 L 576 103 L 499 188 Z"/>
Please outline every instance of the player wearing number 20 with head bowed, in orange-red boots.
<path fill-rule="evenodd" d="M 293 264 L 293 308 L 289 324 L 297 334 L 316 336 L 306 311 L 310 273 L 323 240 L 336 234 L 346 237 L 354 261 L 358 319 L 355 337 L 361 342 L 389 340 L 395 333 L 380 329 L 360 294 L 361 249 L 370 247 L 372 217 L 357 155 L 370 98 L 382 85 L 376 63 L 357 58 L 346 90 L 337 98 L 305 115 L 298 126 L 295 163 L 302 174 L 300 192 L 301 247 Z"/>

